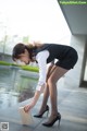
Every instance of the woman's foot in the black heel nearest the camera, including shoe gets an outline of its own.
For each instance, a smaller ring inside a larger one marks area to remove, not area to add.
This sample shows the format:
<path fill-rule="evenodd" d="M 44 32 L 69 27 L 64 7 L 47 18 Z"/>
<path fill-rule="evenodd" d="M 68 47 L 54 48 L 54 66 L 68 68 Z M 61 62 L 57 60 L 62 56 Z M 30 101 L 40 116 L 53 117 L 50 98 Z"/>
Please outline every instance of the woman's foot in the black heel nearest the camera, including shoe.
<path fill-rule="evenodd" d="M 52 127 L 58 120 L 59 120 L 59 124 L 60 124 L 60 120 L 61 120 L 60 112 L 58 112 L 58 115 L 51 115 L 49 120 L 47 122 L 42 123 L 42 126 Z"/>

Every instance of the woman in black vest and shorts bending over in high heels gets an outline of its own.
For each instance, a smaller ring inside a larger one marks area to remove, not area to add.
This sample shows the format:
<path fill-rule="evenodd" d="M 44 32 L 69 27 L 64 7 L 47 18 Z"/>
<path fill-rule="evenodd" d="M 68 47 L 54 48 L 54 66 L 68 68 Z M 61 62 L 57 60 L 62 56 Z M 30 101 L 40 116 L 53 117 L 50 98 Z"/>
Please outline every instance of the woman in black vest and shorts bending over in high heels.
<path fill-rule="evenodd" d="M 42 105 L 38 115 L 35 115 L 35 117 L 41 118 L 46 111 L 49 111 L 47 102 L 50 96 L 51 115 L 48 121 L 42 123 L 42 126 L 52 127 L 55 121 L 59 120 L 60 122 L 61 115 L 58 111 L 57 105 L 57 82 L 69 70 L 74 68 L 78 59 L 77 51 L 70 46 L 59 44 L 16 44 L 13 48 L 12 58 L 14 61 L 21 60 L 22 62 L 25 62 L 25 64 L 36 61 L 39 67 L 39 80 L 35 95 L 30 104 L 24 107 L 24 110 L 28 112 L 28 110 L 36 105 L 44 91 Z M 58 61 L 54 62 L 54 59 Z M 48 71 L 47 63 L 50 63 Z"/>

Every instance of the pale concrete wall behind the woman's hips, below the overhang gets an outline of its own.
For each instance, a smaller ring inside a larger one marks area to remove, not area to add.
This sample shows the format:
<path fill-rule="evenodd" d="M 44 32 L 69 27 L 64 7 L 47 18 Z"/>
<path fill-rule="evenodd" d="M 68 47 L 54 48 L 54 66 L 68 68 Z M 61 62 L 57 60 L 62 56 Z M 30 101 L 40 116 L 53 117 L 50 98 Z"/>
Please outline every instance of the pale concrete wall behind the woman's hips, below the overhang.
<path fill-rule="evenodd" d="M 65 83 L 71 87 L 78 87 L 84 79 L 86 36 L 72 35 L 71 46 L 77 50 L 78 61 L 75 68 L 65 74 Z"/>

